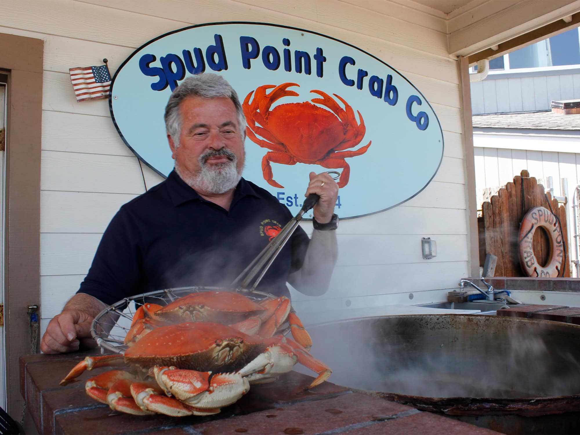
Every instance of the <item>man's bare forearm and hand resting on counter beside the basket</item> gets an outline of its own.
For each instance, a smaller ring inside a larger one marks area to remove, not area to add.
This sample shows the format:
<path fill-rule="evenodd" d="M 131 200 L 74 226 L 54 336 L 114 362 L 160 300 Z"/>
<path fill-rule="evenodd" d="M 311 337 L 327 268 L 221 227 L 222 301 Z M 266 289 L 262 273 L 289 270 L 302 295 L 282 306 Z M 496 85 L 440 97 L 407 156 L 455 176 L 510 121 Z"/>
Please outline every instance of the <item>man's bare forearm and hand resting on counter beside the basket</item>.
<path fill-rule="evenodd" d="M 78 350 L 81 343 L 95 347 L 95 341 L 90 338 L 90 324 L 106 307 L 93 296 L 77 293 L 68 300 L 62 313 L 50 320 L 40 349 L 44 353 L 65 353 Z"/>

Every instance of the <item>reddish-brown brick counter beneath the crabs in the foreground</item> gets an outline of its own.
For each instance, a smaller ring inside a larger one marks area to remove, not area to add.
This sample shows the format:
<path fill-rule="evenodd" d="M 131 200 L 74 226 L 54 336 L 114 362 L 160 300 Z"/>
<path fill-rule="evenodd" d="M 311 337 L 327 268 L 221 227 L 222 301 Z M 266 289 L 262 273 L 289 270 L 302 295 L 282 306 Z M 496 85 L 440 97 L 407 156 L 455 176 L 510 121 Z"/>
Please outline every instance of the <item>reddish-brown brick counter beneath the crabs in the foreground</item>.
<path fill-rule="evenodd" d="M 20 391 L 39 433 L 171 434 L 494 434 L 444 416 L 324 382 L 306 390 L 310 376 L 290 372 L 277 382 L 252 385 L 237 403 L 214 416 L 172 418 L 111 411 L 86 395 L 84 380 L 60 387 L 63 376 L 88 354 L 20 358 Z M 106 371 L 93 370 L 90 376 Z"/>

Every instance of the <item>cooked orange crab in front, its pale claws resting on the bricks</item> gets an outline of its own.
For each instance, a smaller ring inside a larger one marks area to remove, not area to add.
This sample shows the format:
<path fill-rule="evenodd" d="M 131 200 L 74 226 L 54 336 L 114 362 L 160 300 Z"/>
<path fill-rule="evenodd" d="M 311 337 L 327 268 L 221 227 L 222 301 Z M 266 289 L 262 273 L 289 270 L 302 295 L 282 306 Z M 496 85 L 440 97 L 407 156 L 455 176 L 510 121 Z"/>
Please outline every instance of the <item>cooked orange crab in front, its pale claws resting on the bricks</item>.
<path fill-rule="evenodd" d="M 331 369 L 294 340 L 259 338 L 213 322 L 184 322 L 151 329 L 124 355 L 86 357 L 61 381 L 85 370 L 129 365 L 131 372 L 108 371 L 87 380 L 89 396 L 129 414 L 172 416 L 216 414 L 249 390 L 270 382 L 300 362 L 317 372 L 310 387 Z"/>

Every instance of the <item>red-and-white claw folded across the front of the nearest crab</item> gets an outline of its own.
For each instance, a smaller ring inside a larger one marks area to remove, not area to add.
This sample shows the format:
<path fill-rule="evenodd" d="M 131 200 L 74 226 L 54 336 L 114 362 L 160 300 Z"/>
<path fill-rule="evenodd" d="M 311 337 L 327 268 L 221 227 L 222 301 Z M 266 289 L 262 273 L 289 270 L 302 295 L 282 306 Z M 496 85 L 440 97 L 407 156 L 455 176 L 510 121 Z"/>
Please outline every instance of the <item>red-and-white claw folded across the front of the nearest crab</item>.
<path fill-rule="evenodd" d="M 196 408 L 222 408 L 233 404 L 250 389 L 248 380 L 237 373 L 180 370 L 175 367 L 153 368 L 162 389 Z"/>

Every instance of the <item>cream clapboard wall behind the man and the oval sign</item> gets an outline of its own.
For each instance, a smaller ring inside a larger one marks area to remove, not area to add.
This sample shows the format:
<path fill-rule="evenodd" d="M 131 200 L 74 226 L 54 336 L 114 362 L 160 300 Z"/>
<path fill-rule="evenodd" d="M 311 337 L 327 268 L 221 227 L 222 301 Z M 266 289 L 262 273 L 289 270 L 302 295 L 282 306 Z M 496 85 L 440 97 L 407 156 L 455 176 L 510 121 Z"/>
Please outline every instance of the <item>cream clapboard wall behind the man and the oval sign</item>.
<path fill-rule="evenodd" d="M 68 68 L 99 64 L 106 57 L 114 74 L 133 50 L 150 39 L 215 21 L 284 24 L 356 45 L 417 86 L 443 127 L 444 158 L 429 186 L 394 209 L 341 222 L 331 289 L 320 298 L 296 294 L 296 309 L 354 309 L 442 299 L 439 295 L 455 287 L 468 270 L 459 76 L 456 60 L 447 54 L 444 18 L 416 3 L 407 6 L 400 0 L 275 4 L 267 0 L 3 0 L 0 32 L 45 41 L 43 329 L 77 291 L 119 206 L 162 180 L 140 164 L 119 138 L 106 100 L 76 102 Z M 309 223 L 305 228 L 311 231 Z M 421 237 L 437 241 L 437 258 L 422 259 Z"/>

